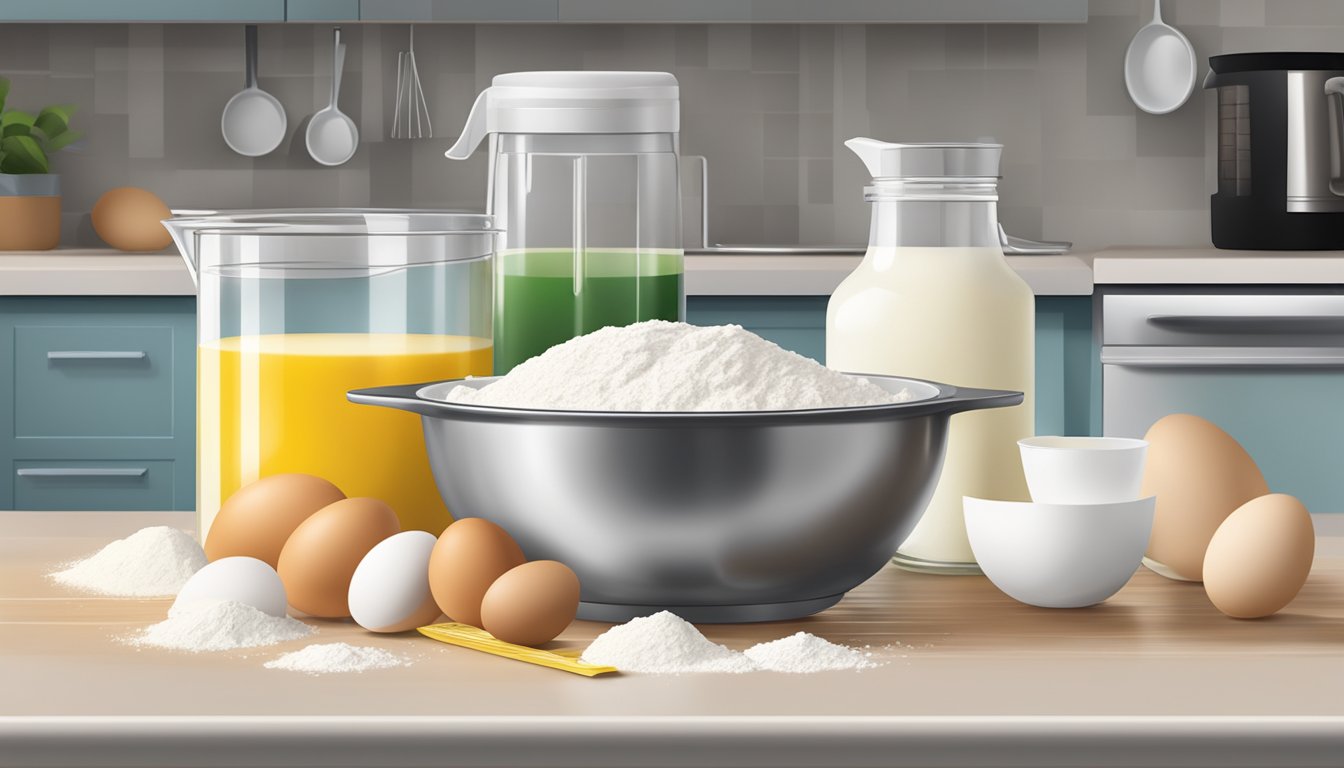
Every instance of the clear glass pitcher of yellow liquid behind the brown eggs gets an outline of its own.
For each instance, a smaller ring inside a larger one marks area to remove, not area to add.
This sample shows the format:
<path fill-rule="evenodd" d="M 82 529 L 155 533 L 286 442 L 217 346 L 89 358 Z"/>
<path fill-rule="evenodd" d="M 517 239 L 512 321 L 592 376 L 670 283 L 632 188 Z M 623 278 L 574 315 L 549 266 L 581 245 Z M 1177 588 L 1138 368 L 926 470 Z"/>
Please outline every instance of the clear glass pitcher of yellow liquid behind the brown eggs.
<path fill-rule="evenodd" d="M 239 487 L 282 472 L 450 521 L 419 421 L 351 389 L 492 369 L 495 238 L 478 214 L 235 211 L 164 222 L 198 285 L 202 537 Z"/>

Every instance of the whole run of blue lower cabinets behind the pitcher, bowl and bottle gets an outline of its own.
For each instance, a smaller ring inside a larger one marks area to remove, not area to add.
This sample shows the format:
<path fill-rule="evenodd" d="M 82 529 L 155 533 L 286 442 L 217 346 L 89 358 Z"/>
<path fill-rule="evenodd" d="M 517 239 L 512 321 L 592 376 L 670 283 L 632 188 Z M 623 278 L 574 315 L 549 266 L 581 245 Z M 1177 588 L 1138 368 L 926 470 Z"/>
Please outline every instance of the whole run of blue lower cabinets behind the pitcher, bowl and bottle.
<path fill-rule="evenodd" d="M 196 301 L 0 297 L 0 508 L 195 504 Z M 688 320 L 735 323 L 825 359 L 824 296 L 691 296 Z M 1101 433 L 1091 299 L 1036 299 L 1036 430 Z"/>

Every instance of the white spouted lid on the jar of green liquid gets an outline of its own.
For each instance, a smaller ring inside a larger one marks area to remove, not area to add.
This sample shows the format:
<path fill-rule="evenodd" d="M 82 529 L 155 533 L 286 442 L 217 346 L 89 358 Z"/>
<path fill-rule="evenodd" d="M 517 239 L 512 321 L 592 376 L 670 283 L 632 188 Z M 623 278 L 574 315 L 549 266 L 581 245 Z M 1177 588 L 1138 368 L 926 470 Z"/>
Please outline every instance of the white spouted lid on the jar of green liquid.
<path fill-rule="evenodd" d="M 496 75 L 466 117 L 454 160 L 491 133 L 676 133 L 680 94 L 671 73 L 554 71 Z"/>

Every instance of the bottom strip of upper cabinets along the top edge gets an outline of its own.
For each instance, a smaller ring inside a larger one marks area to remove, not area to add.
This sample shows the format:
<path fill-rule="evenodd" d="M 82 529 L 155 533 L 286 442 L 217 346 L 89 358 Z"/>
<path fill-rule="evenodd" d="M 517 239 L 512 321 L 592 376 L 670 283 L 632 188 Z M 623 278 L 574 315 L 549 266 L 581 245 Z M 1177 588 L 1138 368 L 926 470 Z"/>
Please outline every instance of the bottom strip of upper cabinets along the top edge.
<path fill-rule="evenodd" d="M 1087 0 L 0 0 L 0 22 L 1019 23 Z"/>

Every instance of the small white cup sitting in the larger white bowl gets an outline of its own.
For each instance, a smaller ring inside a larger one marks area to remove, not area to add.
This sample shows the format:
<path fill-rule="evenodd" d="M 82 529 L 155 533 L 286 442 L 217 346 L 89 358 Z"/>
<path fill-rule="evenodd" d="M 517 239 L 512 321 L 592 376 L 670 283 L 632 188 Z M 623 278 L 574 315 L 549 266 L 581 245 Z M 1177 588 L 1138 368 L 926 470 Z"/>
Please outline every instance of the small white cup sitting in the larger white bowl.
<path fill-rule="evenodd" d="M 1046 504 L 1132 502 L 1144 484 L 1148 441 L 1129 437 L 1028 437 L 1017 441 L 1027 488 Z"/>

